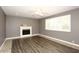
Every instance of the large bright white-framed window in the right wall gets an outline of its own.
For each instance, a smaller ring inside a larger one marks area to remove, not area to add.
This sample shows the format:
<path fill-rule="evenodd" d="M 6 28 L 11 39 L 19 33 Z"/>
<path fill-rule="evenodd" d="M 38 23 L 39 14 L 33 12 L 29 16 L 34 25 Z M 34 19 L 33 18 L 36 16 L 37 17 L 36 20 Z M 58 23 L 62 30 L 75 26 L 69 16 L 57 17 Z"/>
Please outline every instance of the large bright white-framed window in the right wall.
<path fill-rule="evenodd" d="M 71 15 L 46 19 L 45 29 L 71 32 Z"/>

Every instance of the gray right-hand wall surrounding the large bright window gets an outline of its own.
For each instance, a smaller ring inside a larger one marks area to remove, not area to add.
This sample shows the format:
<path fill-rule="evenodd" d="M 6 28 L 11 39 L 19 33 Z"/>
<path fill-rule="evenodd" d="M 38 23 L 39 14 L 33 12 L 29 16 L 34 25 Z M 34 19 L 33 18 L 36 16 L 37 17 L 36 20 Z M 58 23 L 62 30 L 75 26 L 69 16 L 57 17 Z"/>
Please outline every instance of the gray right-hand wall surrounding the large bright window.
<path fill-rule="evenodd" d="M 79 44 L 79 9 L 63 12 L 52 17 L 62 16 L 66 14 L 71 14 L 71 32 L 45 30 L 45 19 L 43 19 L 40 20 L 40 33 L 69 42 L 75 41 L 75 43 Z"/>

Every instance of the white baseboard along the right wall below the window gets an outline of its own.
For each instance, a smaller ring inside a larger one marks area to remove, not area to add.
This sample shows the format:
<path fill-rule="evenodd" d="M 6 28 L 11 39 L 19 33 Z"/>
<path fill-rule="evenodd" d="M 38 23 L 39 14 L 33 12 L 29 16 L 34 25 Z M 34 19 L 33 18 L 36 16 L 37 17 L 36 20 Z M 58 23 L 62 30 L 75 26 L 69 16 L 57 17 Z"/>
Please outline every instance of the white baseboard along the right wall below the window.
<path fill-rule="evenodd" d="M 71 42 L 68 42 L 68 41 L 64 41 L 64 40 L 61 40 L 61 39 L 58 39 L 58 38 L 53 38 L 53 37 L 50 37 L 50 36 L 47 36 L 47 35 L 40 34 L 39 36 L 43 37 L 43 38 L 46 38 L 46 39 L 49 39 L 49 40 L 52 40 L 52 41 L 57 42 L 59 44 L 62 44 L 62 45 L 68 46 L 68 47 L 72 47 L 74 49 L 79 50 L 79 45 L 78 44 L 71 43 Z"/>

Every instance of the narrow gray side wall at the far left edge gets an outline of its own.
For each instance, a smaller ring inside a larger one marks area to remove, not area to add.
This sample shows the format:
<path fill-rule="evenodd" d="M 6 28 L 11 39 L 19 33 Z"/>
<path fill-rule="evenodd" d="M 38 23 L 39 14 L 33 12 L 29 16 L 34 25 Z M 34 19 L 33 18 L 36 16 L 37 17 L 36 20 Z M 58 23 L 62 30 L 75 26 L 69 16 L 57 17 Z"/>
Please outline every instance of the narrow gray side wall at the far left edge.
<path fill-rule="evenodd" d="M 0 7 L 0 46 L 5 39 L 5 14 Z"/>

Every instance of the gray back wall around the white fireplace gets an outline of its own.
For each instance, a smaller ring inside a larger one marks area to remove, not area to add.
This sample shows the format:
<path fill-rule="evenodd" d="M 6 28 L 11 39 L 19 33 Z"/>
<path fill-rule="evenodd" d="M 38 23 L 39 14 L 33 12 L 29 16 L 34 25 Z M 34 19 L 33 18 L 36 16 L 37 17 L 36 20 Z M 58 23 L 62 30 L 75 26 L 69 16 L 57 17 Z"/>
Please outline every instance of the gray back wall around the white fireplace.
<path fill-rule="evenodd" d="M 20 36 L 20 25 L 32 26 L 32 33 L 39 33 L 39 20 L 27 19 L 23 17 L 6 16 L 6 37 Z"/>

